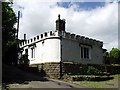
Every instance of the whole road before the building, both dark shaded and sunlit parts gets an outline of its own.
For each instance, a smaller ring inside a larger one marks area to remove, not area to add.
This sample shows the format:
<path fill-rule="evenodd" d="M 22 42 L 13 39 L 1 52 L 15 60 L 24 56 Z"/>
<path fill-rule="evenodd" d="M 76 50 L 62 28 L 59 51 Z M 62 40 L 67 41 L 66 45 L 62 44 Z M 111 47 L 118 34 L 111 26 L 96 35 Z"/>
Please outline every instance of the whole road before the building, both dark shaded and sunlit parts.
<path fill-rule="evenodd" d="M 40 77 L 40 75 L 35 75 L 33 73 L 20 70 L 16 67 L 7 66 L 4 64 L 3 66 L 3 90 L 7 88 L 84 88 L 65 81 Z"/>

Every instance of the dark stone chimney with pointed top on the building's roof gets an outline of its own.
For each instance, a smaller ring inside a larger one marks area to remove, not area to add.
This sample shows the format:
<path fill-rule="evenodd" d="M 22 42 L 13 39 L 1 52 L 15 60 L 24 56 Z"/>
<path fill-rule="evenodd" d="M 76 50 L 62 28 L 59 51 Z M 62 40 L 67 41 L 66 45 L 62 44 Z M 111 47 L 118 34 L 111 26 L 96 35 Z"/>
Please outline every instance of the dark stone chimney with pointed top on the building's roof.
<path fill-rule="evenodd" d="M 58 20 L 56 20 L 56 30 L 65 31 L 65 19 L 60 19 L 60 14 L 58 15 Z"/>

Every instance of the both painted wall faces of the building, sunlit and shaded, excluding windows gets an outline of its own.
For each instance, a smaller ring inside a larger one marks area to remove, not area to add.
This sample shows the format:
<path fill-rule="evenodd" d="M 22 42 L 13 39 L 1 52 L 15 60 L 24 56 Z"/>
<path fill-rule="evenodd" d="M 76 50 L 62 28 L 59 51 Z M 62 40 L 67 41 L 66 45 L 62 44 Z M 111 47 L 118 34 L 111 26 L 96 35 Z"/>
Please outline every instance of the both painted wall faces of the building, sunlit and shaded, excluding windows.
<path fill-rule="evenodd" d="M 44 34 L 43 34 L 44 35 Z M 63 36 L 62 41 L 60 40 L 60 36 Z M 39 42 L 38 42 L 39 41 Z M 102 48 L 99 47 L 100 44 L 92 44 L 92 47 L 85 46 L 89 48 L 90 59 L 81 59 L 81 46 L 80 43 L 83 44 L 86 42 L 85 40 L 76 39 L 68 35 L 66 37 L 65 33 L 60 33 L 58 31 L 53 32 L 52 35 L 48 33 L 47 37 L 43 37 L 34 42 L 27 43 L 22 45 L 24 47 L 24 51 L 22 54 L 25 54 L 25 49 L 28 48 L 28 59 L 30 60 L 30 64 L 39 64 L 46 62 L 60 62 L 61 57 L 63 62 L 79 62 L 82 64 L 102 64 L 103 63 L 103 54 Z M 88 40 L 88 43 L 90 41 Z M 35 57 L 31 58 L 31 47 L 27 46 L 30 44 L 36 44 L 35 47 Z M 100 43 L 100 42 L 99 42 Z M 62 45 L 62 52 L 61 52 Z M 62 54 L 62 56 L 61 56 Z"/>

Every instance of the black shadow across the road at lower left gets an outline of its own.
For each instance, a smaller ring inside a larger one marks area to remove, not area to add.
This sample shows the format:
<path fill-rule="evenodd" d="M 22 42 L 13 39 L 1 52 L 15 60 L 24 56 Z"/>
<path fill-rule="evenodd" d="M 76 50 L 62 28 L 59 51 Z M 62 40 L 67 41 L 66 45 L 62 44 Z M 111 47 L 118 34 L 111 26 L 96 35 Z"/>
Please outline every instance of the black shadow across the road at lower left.
<path fill-rule="evenodd" d="M 9 84 L 28 84 L 31 81 L 45 82 L 48 79 L 40 73 L 21 70 L 15 66 L 2 65 L 2 84 L 6 88 Z"/>

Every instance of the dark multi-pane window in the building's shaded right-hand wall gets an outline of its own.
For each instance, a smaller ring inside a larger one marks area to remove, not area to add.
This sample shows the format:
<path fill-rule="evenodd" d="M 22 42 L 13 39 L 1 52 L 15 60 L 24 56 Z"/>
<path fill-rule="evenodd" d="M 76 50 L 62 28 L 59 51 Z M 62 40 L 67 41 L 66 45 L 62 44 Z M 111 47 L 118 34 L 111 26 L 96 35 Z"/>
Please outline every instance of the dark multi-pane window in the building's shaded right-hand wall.
<path fill-rule="evenodd" d="M 89 47 L 81 47 L 81 58 L 90 59 L 90 48 Z"/>

